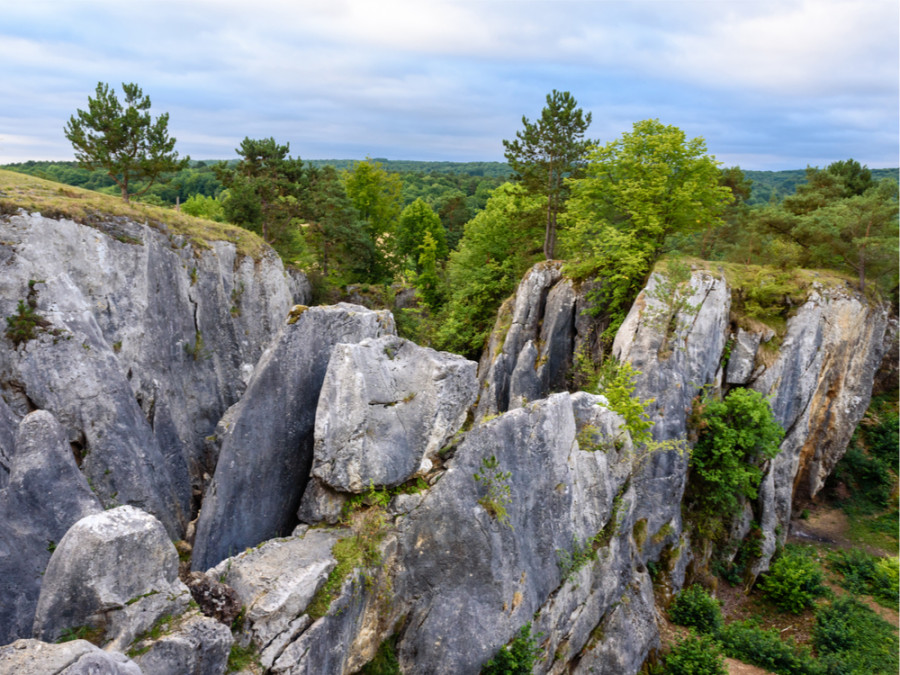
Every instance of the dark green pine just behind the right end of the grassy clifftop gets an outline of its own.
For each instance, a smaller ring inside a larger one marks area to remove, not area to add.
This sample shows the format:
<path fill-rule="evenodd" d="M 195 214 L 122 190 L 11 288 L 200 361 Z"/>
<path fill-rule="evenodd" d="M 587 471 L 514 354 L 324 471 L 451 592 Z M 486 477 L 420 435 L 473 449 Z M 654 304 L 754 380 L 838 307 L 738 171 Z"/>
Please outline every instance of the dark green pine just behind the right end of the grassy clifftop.
<path fill-rule="evenodd" d="M 295 219 L 304 196 L 303 162 L 290 157 L 289 144 L 278 145 L 274 138 L 245 138 L 235 152 L 241 160 L 234 169 L 225 162 L 216 167 L 229 191 L 225 217 L 261 234 L 282 256 L 290 255 L 299 237 Z"/>

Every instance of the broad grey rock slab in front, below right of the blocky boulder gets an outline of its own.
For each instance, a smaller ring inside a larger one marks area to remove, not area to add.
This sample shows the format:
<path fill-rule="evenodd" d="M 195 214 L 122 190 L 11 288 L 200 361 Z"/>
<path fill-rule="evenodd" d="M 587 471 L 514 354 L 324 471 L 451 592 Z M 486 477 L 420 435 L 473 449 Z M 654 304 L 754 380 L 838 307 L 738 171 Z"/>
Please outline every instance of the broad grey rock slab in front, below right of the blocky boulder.
<path fill-rule="evenodd" d="M 398 643 L 404 668 L 477 672 L 560 585 L 557 550 L 609 521 L 618 489 L 609 458 L 579 449 L 576 433 L 570 396 L 555 394 L 476 427 L 459 445 L 399 535 L 406 574 L 394 587 L 413 599 Z M 510 488 L 511 527 L 479 504 L 486 486 L 473 476 L 490 457 L 510 472 L 496 480 Z"/>

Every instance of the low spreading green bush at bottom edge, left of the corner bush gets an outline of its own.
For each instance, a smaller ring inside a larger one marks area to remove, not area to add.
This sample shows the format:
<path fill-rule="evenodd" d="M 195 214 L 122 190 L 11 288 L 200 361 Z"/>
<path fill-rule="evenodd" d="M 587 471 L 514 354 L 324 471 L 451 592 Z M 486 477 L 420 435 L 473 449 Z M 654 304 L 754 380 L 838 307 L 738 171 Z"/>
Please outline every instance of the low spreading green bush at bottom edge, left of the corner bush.
<path fill-rule="evenodd" d="M 764 630 L 749 621 L 726 626 L 719 634 L 726 656 L 765 668 L 778 675 L 818 675 L 822 673 L 809 649 L 785 642 L 777 630 Z"/>

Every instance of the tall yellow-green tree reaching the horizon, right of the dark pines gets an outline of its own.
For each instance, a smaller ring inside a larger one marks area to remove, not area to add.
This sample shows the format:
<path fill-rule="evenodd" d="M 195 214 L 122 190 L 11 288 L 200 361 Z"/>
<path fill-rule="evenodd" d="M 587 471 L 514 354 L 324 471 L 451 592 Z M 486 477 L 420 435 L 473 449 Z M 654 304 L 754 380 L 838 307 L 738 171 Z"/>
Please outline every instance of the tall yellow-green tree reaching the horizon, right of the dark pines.
<path fill-rule="evenodd" d="M 379 162 L 366 159 L 356 162 L 344 174 L 344 186 L 372 242 L 366 261 L 366 278 L 372 282 L 386 281 L 393 268 L 389 238 L 400 215 L 403 182 Z"/>

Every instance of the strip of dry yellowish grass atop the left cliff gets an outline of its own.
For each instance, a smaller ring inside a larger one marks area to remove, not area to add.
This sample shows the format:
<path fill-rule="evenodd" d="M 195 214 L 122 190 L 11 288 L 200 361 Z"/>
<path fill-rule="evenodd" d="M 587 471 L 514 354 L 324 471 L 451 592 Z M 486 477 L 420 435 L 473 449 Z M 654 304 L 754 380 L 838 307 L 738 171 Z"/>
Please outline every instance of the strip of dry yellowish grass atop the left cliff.
<path fill-rule="evenodd" d="M 12 215 L 20 208 L 30 213 L 39 211 L 47 218 L 68 218 L 104 232 L 111 229 L 113 218 L 125 217 L 182 236 L 198 248 L 209 248 L 210 241 L 230 241 L 238 253 L 254 259 L 266 250 L 259 236 L 236 225 L 195 218 L 171 208 L 125 203 L 120 197 L 0 169 L 0 215 Z M 141 243 L 115 231 L 110 233 L 126 243 Z"/>

